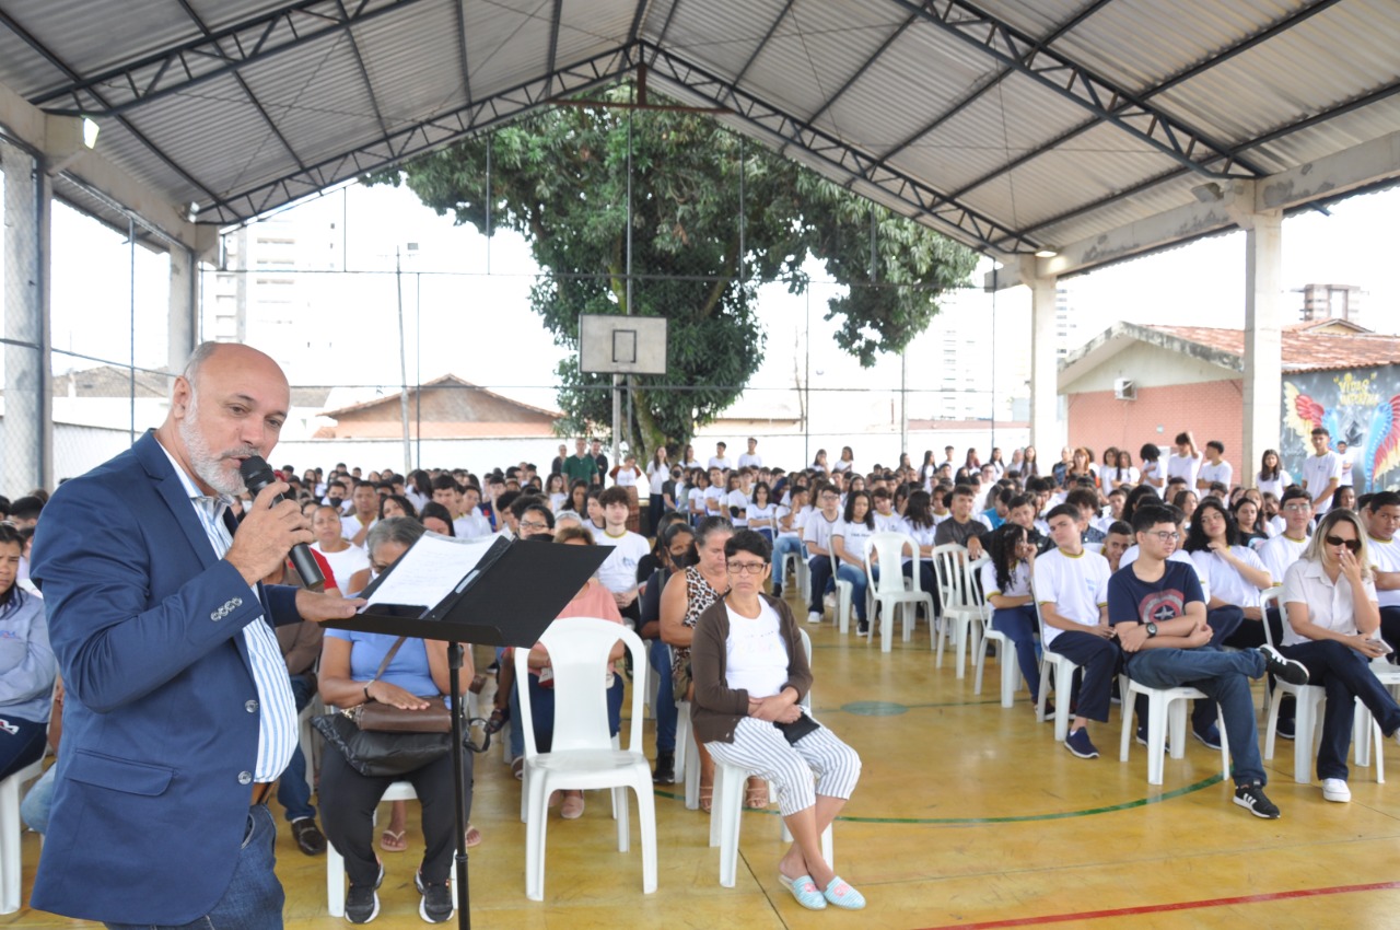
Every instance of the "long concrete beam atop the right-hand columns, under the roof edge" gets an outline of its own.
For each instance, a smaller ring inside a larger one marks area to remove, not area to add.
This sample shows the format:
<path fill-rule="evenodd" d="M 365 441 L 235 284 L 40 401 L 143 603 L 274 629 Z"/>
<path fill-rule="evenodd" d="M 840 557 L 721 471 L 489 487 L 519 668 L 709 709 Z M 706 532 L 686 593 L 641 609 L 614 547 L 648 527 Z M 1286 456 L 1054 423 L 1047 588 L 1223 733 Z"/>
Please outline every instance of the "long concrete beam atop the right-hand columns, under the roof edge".
<path fill-rule="evenodd" d="M 1102 235 L 1058 247 L 1054 258 L 1032 259 L 1030 277 L 1067 277 L 1140 258 L 1177 242 L 1232 228 L 1247 228 L 1249 217 L 1292 210 L 1350 190 L 1400 178 L 1400 132 L 1352 146 L 1326 158 L 1257 181 L 1210 182 L 1194 188 L 1198 202 L 1145 217 Z M 1025 265 L 1008 263 L 987 275 L 986 287 L 1029 284 Z"/>

